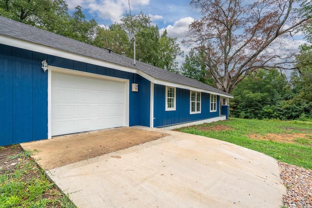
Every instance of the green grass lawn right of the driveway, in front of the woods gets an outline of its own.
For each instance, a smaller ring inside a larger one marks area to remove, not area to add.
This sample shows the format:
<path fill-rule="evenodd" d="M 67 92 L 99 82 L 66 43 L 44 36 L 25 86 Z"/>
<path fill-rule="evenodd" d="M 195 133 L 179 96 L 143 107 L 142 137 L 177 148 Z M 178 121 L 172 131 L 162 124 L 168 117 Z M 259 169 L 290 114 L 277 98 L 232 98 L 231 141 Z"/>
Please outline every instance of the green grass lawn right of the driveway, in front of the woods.
<path fill-rule="evenodd" d="M 223 126 L 223 131 L 214 131 L 214 127 Z M 193 133 L 215 138 L 236 145 L 263 152 L 277 160 L 306 169 L 312 169 L 312 122 L 249 120 L 231 118 L 226 121 L 205 123 L 177 129 L 180 132 Z M 274 140 L 256 140 L 248 135 L 256 134 L 265 137 L 267 133 L 283 136 L 294 134 L 292 143 Z M 304 133 L 307 138 L 295 138 L 296 133 Z"/>

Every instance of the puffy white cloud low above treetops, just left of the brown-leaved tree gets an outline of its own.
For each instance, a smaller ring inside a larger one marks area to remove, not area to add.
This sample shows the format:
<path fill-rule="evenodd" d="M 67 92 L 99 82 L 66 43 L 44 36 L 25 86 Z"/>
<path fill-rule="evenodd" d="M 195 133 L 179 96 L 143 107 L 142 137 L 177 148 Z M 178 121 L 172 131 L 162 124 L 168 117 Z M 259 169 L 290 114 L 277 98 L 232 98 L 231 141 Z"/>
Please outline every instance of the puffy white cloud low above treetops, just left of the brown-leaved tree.
<path fill-rule="evenodd" d="M 174 25 L 168 25 L 166 28 L 161 28 L 159 33 L 162 34 L 164 30 L 167 30 L 168 37 L 177 38 L 179 40 L 185 38 L 189 31 L 189 25 L 194 21 L 193 18 L 187 17 L 177 20 Z"/>

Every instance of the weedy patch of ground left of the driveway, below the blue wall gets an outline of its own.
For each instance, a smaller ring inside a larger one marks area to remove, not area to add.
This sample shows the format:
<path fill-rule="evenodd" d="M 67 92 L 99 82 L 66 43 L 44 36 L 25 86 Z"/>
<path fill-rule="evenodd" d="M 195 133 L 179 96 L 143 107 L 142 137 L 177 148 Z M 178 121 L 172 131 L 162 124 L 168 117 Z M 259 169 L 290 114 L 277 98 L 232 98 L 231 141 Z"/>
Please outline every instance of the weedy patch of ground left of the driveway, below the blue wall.
<path fill-rule="evenodd" d="M 0 149 L 1 208 L 76 208 L 20 145 Z"/>

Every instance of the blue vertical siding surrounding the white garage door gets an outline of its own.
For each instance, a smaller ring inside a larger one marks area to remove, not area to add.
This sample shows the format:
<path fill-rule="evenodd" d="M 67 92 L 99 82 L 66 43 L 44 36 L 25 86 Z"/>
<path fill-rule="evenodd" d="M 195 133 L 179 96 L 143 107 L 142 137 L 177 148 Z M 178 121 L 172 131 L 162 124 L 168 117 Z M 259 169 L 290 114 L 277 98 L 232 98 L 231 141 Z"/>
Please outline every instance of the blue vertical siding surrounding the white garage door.
<path fill-rule="evenodd" d="M 129 80 L 129 126 L 150 125 L 150 82 L 137 74 L 0 44 L 0 146 L 48 137 L 49 65 Z M 131 84 L 139 84 L 132 92 Z M 139 102 L 144 100 L 144 102 Z"/>

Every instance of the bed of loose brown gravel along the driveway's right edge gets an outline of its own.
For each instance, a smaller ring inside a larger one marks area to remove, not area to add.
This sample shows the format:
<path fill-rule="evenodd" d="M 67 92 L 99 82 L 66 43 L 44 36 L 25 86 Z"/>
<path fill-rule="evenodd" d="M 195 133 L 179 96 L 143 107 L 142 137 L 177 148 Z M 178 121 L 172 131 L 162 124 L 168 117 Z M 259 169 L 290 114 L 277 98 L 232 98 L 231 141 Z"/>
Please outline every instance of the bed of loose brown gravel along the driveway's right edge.
<path fill-rule="evenodd" d="M 284 208 L 312 208 L 312 170 L 278 162 L 280 177 L 287 188 Z"/>

